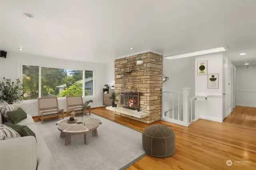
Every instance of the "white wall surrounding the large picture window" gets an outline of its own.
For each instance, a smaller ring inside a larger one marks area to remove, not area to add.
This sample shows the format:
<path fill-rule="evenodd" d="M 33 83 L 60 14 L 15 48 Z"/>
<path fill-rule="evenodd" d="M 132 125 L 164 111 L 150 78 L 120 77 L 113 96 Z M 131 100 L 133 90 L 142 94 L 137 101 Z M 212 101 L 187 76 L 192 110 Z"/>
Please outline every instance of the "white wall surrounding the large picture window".
<path fill-rule="evenodd" d="M 72 58 L 72 56 L 70 58 Z M 107 83 L 106 64 L 85 63 L 25 53 L 8 52 L 6 59 L 0 58 L 0 78 L 6 77 L 12 80 L 20 78 L 20 80 L 22 80 L 22 64 L 94 70 L 94 96 L 86 96 L 83 100 L 92 99 L 94 101 L 94 103 L 91 104 L 92 107 L 102 106 L 102 88 L 104 84 Z M 60 109 L 65 109 L 66 111 L 65 98 L 59 98 L 58 102 Z M 26 113 L 32 116 L 38 115 L 37 100 L 26 100 L 22 102 L 22 104 L 25 106 Z"/>

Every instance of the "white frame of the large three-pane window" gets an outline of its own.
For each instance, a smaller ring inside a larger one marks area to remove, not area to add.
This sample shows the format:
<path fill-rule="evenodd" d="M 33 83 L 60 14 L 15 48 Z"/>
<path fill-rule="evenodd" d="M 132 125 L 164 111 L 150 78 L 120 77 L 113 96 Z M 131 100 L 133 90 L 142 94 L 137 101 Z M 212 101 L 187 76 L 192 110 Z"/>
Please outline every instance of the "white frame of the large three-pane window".
<path fill-rule="evenodd" d="M 21 72 L 21 79 L 22 80 L 22 76 L 23 76 L 23 65 L 29 65 L 29 66 L 38 66 L 39 67 L 39 72 L 38 72 L 38 97 L 41 98 L 41 93 L 42 93 L 42 67 L 46 67 L 46 68 L 58 68 L 58 69 L 68 69 L 68 70 L 82 70 L 83 71 L 83 80 L 85 80 L 85 70 L 86 71 L 92 71 L 92 77 L 93 77 L 93 84 L 92 84 L 92 96 L 85 96 L 85 82 L 83 81 L 83 92 L 82 92 L 82 98 L 94 98 L 95 96 L 95 70 L 91 69 L 91 68 L 70 68 L 70 67 L 61 67 L 61 66 L 50 66 L 50 65 L 39 65 L 39 64 L 34 64 L 34 63 L 20 63 L 21 68 L 20 68 L 20 72 Z M 19 73 L 20 74 L 20 73 Z M 22 91 L 23 93 L 23 91 Z M 66 97 L 59 97 L 58 99 L 65 99 Z M 24 101 L 37 101 L 37 99 L 31 99 L 31 100 L 23 100 Z"/>

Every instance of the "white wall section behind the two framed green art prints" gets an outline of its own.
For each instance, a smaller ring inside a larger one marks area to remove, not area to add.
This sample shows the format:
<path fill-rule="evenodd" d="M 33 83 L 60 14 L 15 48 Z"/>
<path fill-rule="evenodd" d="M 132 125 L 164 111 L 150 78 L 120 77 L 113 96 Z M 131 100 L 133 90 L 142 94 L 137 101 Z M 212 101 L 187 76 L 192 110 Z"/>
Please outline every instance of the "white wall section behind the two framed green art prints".
<path fill-rule="evenodd" d="M 195 102 L 196 119 L 207 119 L 212 121 L 222 122 L 222 53 L 214 53 L 208 55 L 201 55 L 196 57 L 195 66 L 197 68 L 198 61 L 207 61 L 207 73 L 219 74 L 219 88 L 209 89 L 207 75 L 197 75 L 195 69 L 195 94 L 212 95 L 207 98 L 197 98 Z"/>

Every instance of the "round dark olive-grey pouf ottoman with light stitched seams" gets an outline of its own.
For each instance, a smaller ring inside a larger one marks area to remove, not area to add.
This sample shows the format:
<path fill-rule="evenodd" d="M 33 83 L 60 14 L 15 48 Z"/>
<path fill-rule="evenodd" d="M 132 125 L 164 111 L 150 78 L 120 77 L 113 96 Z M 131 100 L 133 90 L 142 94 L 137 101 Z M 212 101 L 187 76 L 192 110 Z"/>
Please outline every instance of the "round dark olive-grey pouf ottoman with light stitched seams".
<path fill-rule="evenodd" d="M 175 152 L 175 134 L 165 125 L 150 125 L 142 133 L 142 145 L 147 154 L 158 158 Z"/>

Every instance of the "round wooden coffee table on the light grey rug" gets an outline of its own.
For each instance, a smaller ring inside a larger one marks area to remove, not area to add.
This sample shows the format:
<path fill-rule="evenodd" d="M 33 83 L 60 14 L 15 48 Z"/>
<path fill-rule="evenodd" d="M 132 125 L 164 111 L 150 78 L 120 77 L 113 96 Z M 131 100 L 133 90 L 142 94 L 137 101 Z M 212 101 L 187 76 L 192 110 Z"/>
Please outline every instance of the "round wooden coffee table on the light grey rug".
<path fill-rule="evenodd" d="M 102 124 L 100 119 L 93 117 L 85 117 L 82 123 L 82 117 L 76 117 L 77 123 L 67 123 L 69 118 L 63 119 L 56 123 L 58 130 L 60 131 L 60 137 L 66 137 L 65 146 L 70 144 L 71 135 L 84 134 L 84 143 L 87 145 L 86 133 L 92 131 L 92 136 L 97 137 L 97 127 Z"/>

